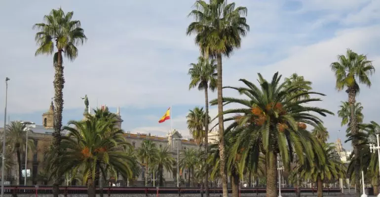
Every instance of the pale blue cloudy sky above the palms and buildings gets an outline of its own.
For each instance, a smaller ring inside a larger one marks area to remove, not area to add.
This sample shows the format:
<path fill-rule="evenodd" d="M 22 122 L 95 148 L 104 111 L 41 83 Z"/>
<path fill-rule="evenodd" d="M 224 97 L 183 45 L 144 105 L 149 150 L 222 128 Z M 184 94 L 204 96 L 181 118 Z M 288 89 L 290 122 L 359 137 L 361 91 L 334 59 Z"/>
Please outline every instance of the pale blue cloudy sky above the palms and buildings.
<path fill-rule="evenodd" d="M 110 1 L 111 2 L 111 1 Z M 231 1 L 228 1 L 231 2 Z M 336 113 L 346 93 L 335 90 L 330 64 L 347 48 L 380 62 L 379 0 L 235 0 L 248 9 L 250 32 L 241 48 L 223 59 L 223 85 L 240 86 L 241 78 L 256 82 L 257 73 L 270 78 L 276 71 L 283 78 L 296 72 L 312 81 L 315 91 L 326 94 L 315 103 Z M 188 17 L 194 0 L 39 0 L 0 2 L 0 79 L 9 77 L 10 121 L 28 120 L 42 124 L 54 96 L 51 56 L 35 57 L 32 30 L 53 8 L 74 11 L 88 40 L 79 46 L 74 62 L 64 60 L 65 87 L 63 123 L 82 118 L 80 97 L 87 95 L 91 108 L 106 104 L 120 107 L 125 131 L 165 135 L 170 121 L 158 120 L 172 106 L 172 125 L 185 137 L 186 115 L 204 106 L 204 93 L 189 90 L 190 63 L 196 63 L 199 49 L 194 36 L 186 35 L 193 21 Z M 379 73 L 372 86 L 361 85 L 357 101 L 364 106 L 364 121 L 380 122 Z M 0 108 L 5 85 L 0 85 Z M 224 96 L 239 97 L 233 91 Z M 210 93 L 210 99 L 216 93 Z M 229 106 L 233 107 L 233 106 Z M 228 108 L 228 107 L 227 107 Z M 217 109 L 212 106 L 210 115 Z M 0 117 L 3 117 L 1 110 Z M 335 116 L 323 118 L 329 141 L 345 139 L 345 127 Z M 1 118 L 0 125 L 3 125 Z M 339 132 L 341 131 L 341 132 Z M 343 145 L 351 149 L 350 144 Z"/>

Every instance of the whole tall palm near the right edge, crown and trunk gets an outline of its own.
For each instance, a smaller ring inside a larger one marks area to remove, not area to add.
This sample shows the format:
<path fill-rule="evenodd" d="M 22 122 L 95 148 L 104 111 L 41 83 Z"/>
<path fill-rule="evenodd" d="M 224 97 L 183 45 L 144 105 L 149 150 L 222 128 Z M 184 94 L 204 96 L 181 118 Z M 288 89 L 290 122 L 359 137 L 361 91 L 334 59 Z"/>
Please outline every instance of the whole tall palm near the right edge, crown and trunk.
<path fill-rule="evenodd" d="M 359 83 L 371 87 L 371 80 L 369 75 L 375 72 L 375 67 L 372 66 L 372 61 L 367 60 L 367 56 L 353 52 L 347 49 L 346 55 L 339 55 L 338 62 L 331 64 L 331 69 L 335 72 L 336 89 L 342 91 L 346 89 L 348 94 L 348 103 L 351 108 L 350 127 L 353 134 L 357 133 L 356 125 L 358 124 L 354 113 L 355 98 L 359 92 Z M 355 161 L 355 184 L 360 185 L 360 165 L 358 162 L 359 150 L 356 147 L 357 141 L 352 141 L 354 147 L 354 161 Z M 360 188 L 356 189 L 356 196 L 360 196 Z"/>

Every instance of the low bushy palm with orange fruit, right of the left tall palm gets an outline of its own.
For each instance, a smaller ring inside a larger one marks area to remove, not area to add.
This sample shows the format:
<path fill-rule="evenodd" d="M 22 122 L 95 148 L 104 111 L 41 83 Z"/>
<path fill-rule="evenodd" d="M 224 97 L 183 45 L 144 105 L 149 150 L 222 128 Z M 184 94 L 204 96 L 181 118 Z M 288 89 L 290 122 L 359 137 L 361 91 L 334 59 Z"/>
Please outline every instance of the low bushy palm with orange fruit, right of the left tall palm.
<path fill-rule="evenodd" d="M 114 177 L 118 172 L 124 180 L 131 177 L 132 167 L 136 163 L 123 151 L 129 144 L 123 137 L 123 130 L 109 131 L 110 127 L 114 127 L 112 121 L 101 122 L 95 117 L 87 117 L 85 121 L 69 121 L 69 126 L 64 127 L 69 134 L 62 136 L 59 147 L 65 150 L 60 156 L 61 161 L 65 162 L 52 174 L 61 177 L 68 171 L 82 169 L 83 183 L 87 183 L 89 197 L 95 197 L 94 180 L 98 168 L 102 172 L 114 172 Z M 105 176 L 105 173 L 102 175 Z"/>

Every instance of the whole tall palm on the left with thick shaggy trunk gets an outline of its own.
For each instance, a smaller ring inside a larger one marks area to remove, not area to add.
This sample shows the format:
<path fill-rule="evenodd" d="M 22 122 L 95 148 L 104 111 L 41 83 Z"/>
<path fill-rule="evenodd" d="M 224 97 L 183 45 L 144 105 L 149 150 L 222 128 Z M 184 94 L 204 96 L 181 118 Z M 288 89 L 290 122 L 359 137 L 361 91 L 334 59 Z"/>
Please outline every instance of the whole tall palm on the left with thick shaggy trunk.
<path fill-rule="evenodd" d="M 43 17 L 45 23 L 37 23 L 33 29 L 37 29 L 35 40 L 38 45 L 35 55 L 51 55 L 54 52 L 54 44 L 57 51 L 53 56 L 54 74 L 54 132 L 53 147 L 59 147 L 62 130 L 62 111 L 63 111 L 63 87 L 65 84 L 63 74 L 62 54 L 71 61 L 78 56 L 76 46 L 83 44 L 87 39 L 84 30 L 80 27 L 80 21 L 72 20 L 74 12 L 65 13 L 61 8 L 52 9 L 49 15 Z M 56 152 L 59 155 L 59 150 Z M 60 162 L 57 161 L 57 164 Z M 54 181 L 54 197 L 59 194 L 59 178 Z"/>

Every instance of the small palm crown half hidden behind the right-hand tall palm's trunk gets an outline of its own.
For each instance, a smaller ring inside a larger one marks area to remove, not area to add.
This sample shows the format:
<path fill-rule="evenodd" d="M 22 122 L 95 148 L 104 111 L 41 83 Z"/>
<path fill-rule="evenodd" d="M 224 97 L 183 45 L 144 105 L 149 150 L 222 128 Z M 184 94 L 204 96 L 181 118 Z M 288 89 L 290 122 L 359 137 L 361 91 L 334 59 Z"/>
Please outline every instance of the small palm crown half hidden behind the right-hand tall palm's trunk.
<path fill-rule="evenodd" d="M 349 124 L 348 120 L 351 116 L 351 107 L 349 102 L 347 101 L 341 101 L 342 105 L 339 106 L 340 110 L 338 111 L 338 117 L 342 118 L 341 126 Z M 354 105 L 354 114 L 356 117 L 356 122 L 358 124 L 363 122 L 364 115 L 362 113 L 363 106 L 362 103 L 357 102 Z"/>

